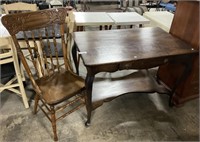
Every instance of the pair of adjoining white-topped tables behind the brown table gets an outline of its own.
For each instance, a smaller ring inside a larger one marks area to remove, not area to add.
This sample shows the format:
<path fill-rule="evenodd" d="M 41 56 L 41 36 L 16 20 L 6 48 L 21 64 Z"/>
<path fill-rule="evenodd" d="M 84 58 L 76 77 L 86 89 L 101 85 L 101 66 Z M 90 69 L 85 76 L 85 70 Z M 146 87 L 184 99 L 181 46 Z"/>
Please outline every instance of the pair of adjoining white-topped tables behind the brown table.
<path fill-rule="evenodd" d="M 149 20 L 137 14 L 136 12 L 74 12 L 77 31 L 82 31 L 85 26 L 104 26 L 105 29 L 111 29 L 113 25 L 133 26 L 149 24 Z M 98 17 L 98 18 L 97 18 Z"/>

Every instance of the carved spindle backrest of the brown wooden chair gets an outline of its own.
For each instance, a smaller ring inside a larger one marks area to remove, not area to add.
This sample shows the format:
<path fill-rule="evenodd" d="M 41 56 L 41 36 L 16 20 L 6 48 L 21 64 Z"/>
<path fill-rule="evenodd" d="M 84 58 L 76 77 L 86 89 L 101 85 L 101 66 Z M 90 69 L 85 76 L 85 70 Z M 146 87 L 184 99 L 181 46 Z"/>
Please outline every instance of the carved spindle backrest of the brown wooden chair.
<path fill-rule="evenodd" d="M 68 17 L 68 13 L 69 9 L 58 8 L 8 14 L 2 17 L 2 23 L 12 36 L 18 55 L 34 87 L 37 87 L 35 79 L 51 76 L 53 73 L 63 70 L 62 61 L 58 58 L 58 45 L 60 44 L 64 56 L 64 69 L 71 70 L 69 55 L 67 55 L 69 29 L 66 17 Z M 20 40 L 17 39 L 19 34 L 20 38 L 25 40 L 32 64 L 28 64 L 25 60 L 25 55 L 19 43 Z M 51 42 L 53 44 L 50 44 Z M 30 44 L 34 45 L 34 49 Z M 46 51 L 46 48 L 48 48 L 48 51 Z M 48 57 L 46 56 L 47 52 Z"/>

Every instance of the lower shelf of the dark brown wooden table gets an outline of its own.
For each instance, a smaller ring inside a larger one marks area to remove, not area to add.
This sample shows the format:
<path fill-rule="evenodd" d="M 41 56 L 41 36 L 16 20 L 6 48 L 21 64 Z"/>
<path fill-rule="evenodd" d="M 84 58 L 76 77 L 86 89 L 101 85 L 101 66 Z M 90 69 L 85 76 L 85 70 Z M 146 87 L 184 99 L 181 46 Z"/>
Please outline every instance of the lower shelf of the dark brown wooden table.
<path fill-rule="evenodd" d="M 102 105 L 103 102 L 131 92 L 168 94 L 169 90 L 155 80 L 151 71 L 123 70 L 115 73 L 101 73 L 96 75 L 93 84 L 93 109 Z"/>

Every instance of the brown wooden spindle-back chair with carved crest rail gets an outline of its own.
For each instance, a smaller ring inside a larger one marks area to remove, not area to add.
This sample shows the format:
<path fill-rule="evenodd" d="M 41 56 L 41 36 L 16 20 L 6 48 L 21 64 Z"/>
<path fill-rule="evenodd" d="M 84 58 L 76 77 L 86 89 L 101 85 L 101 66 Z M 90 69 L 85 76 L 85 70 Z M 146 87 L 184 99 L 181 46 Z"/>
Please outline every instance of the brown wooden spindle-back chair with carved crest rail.
<path fill-rule="evenodd" d="M 42 109 L 52 124 L 55 141 L 58 140 L 56 121 L 64 118 L 85 104 L 83 99 L 85 97 L 84 79 L 73 73 L 71 63 L 68 59 L 69 52 L 67 45 L 70 30 L 65 22 L 66 17 L 69 15 L 68 12 L 66 8 L 58 8 L 9 14 L 2 18 L 2 23 L 12 36 L 18 55 L 36 92 L 34 113 L 37 112 L 38 106 Z M 55 33 L 55 25 L 59 25 L 59 33 Z M 24 40 L 31 54 L 32 64 L 27 63 L 20 48 L 16 36 L 19 32 L 23 32 Z M 31 36 L 29 37 L 30 33 Z M 56 38 L 57 34 L 60 34 L 61 38 Z M 34 42 L 34 53 L 30 49 L 30 39 Z M 35 42 L 36 40 L 39 43 Z M 50 55 L 47 57 L 46 52 L 44 52 L 43 43 L 50 43 L 51 40 L 54 44 L 47 44 Z M 64 68 L 61 67 L 62 63 L 58 60 L 58 43 L 62 45 Z M 41 50 L 39 50 L 38 44 L 41 45 Z M 52 47 L 54 50 L 51 50 Z M 52 53 L 53 51 L 54 53 Z M 55 57 L 52 56 L 53 54 Z M 36 62 L 39 64 L 37 65 Z M 63 102 L 66 102 L 66 104 L 63 104 Z M 63 112 L 61 110 L 69 105 L 71 106 L 70 108 L 73 107 L 72 110 L 59 116 L 56 115 L 56 112 Z"/>

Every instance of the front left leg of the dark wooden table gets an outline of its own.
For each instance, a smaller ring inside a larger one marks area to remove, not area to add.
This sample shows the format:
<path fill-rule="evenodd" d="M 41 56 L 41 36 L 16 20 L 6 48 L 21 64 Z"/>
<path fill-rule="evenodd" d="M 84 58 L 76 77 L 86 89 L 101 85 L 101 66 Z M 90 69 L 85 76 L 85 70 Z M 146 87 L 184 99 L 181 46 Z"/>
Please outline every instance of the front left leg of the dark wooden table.
<path fill-rule="evenodd" d="M 92 107 L 92 86 L 94 81 L 94 75 L 89 75 L 87 73 L 86 79 L 85 79 L 85 85 L 86 85 L 86 109 L 87 109 L 87 121 L 85 123 L 86 126 L 90 125 L 91 122 L 91 113 L 93 110 Z"/>

